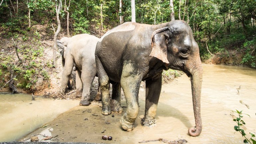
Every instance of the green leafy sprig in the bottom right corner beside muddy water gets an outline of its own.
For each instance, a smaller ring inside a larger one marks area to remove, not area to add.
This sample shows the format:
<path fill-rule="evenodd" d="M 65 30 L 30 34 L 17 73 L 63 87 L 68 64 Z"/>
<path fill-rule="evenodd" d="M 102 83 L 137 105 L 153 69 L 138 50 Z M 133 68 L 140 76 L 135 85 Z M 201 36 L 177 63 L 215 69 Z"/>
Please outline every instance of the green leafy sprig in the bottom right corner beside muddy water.
<path fill-rule="evenodd" d="M 242 110 L 241 111 L 236 110 L 233 112 L 236 112 L 238 114 L 238 117 L 236 117 L 236 119 L 233 119 L 233 121 L 235 121 L 237 123 L 237 125 L 234 126 L 234 130 L 239 131 L 239 133 L 241 133 L 242 137 L 245 138 L 244 143 L 249 142 L 250 144 L 256 144 L 256 141 L 254 139 L 252 139 L 253 137 L 255 137 L 255 135 L 253 133 L 250 133 L 251 138 L 248 139 L 246 137 L 246 133 L 244 132 L 244 129 L 241 129 L 241 126 L 245 125 L 245 122 L 241 119 L 243 117 L 243 114 L 245 114 L 245 113 L 242 113 Z M 245 115 L 248 115 L 248 114 L 245 114 Z M 250 116 L 250 115 L 248 115 L 248 116 Z"/>

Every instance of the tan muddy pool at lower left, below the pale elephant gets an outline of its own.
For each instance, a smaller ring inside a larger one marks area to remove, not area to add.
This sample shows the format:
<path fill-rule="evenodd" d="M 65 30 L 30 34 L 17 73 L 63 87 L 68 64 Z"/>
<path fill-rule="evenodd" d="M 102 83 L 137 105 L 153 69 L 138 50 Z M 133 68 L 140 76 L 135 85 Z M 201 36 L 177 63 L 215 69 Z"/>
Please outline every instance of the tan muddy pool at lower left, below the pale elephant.
<path fill-rule="evenodd" d="M 0 142 L 18 140 L 50 122 L 79 101 L 35 98 L 26 94 L 0 94 Z"/>

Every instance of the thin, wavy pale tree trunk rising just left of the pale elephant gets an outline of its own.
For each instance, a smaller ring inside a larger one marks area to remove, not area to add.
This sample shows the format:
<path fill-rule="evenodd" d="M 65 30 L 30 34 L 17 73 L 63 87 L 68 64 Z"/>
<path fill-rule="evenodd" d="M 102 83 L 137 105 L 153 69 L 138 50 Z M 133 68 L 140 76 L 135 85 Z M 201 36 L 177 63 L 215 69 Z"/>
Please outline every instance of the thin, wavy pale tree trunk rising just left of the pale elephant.
<path fill-rule="evenodd" d="M 53 45 L 53 66 L 56 66 L 56 40 L 59 32 L 61 31 L 61 21 L 60 21 L 60 10 L 62 6 L 62 1 L 59 0 L 58 8 L 57 8 L 57 1 L 56 1 L 56 17 L 57 17 L 57 23 L 58 23 L 58 29 L 54 35 L 54 45 Z"/>

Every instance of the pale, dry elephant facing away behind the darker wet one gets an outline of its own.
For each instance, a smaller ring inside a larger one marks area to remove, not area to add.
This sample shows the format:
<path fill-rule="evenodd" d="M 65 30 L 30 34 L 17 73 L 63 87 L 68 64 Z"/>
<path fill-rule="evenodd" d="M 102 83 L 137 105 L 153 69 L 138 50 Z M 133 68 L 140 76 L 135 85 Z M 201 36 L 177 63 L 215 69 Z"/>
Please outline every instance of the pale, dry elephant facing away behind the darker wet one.
<path fill-rule="evenodd" d="M 88 34 L 63 37 L 61 40 L 57 40 L 63 65 L 61 90 L 59 93 L 65 94 L 69 76 L 75 65 L 76 97 L 82 97 L 79 104 L 81 106 L 88 106 L 90 104 L 90 86 L 97 74 L 94 52 L 98 41 L 99 38 Z M 96 101 L 101 100 L 100 93 L 100 88 L 98 88 L 95 97 Z"/>

